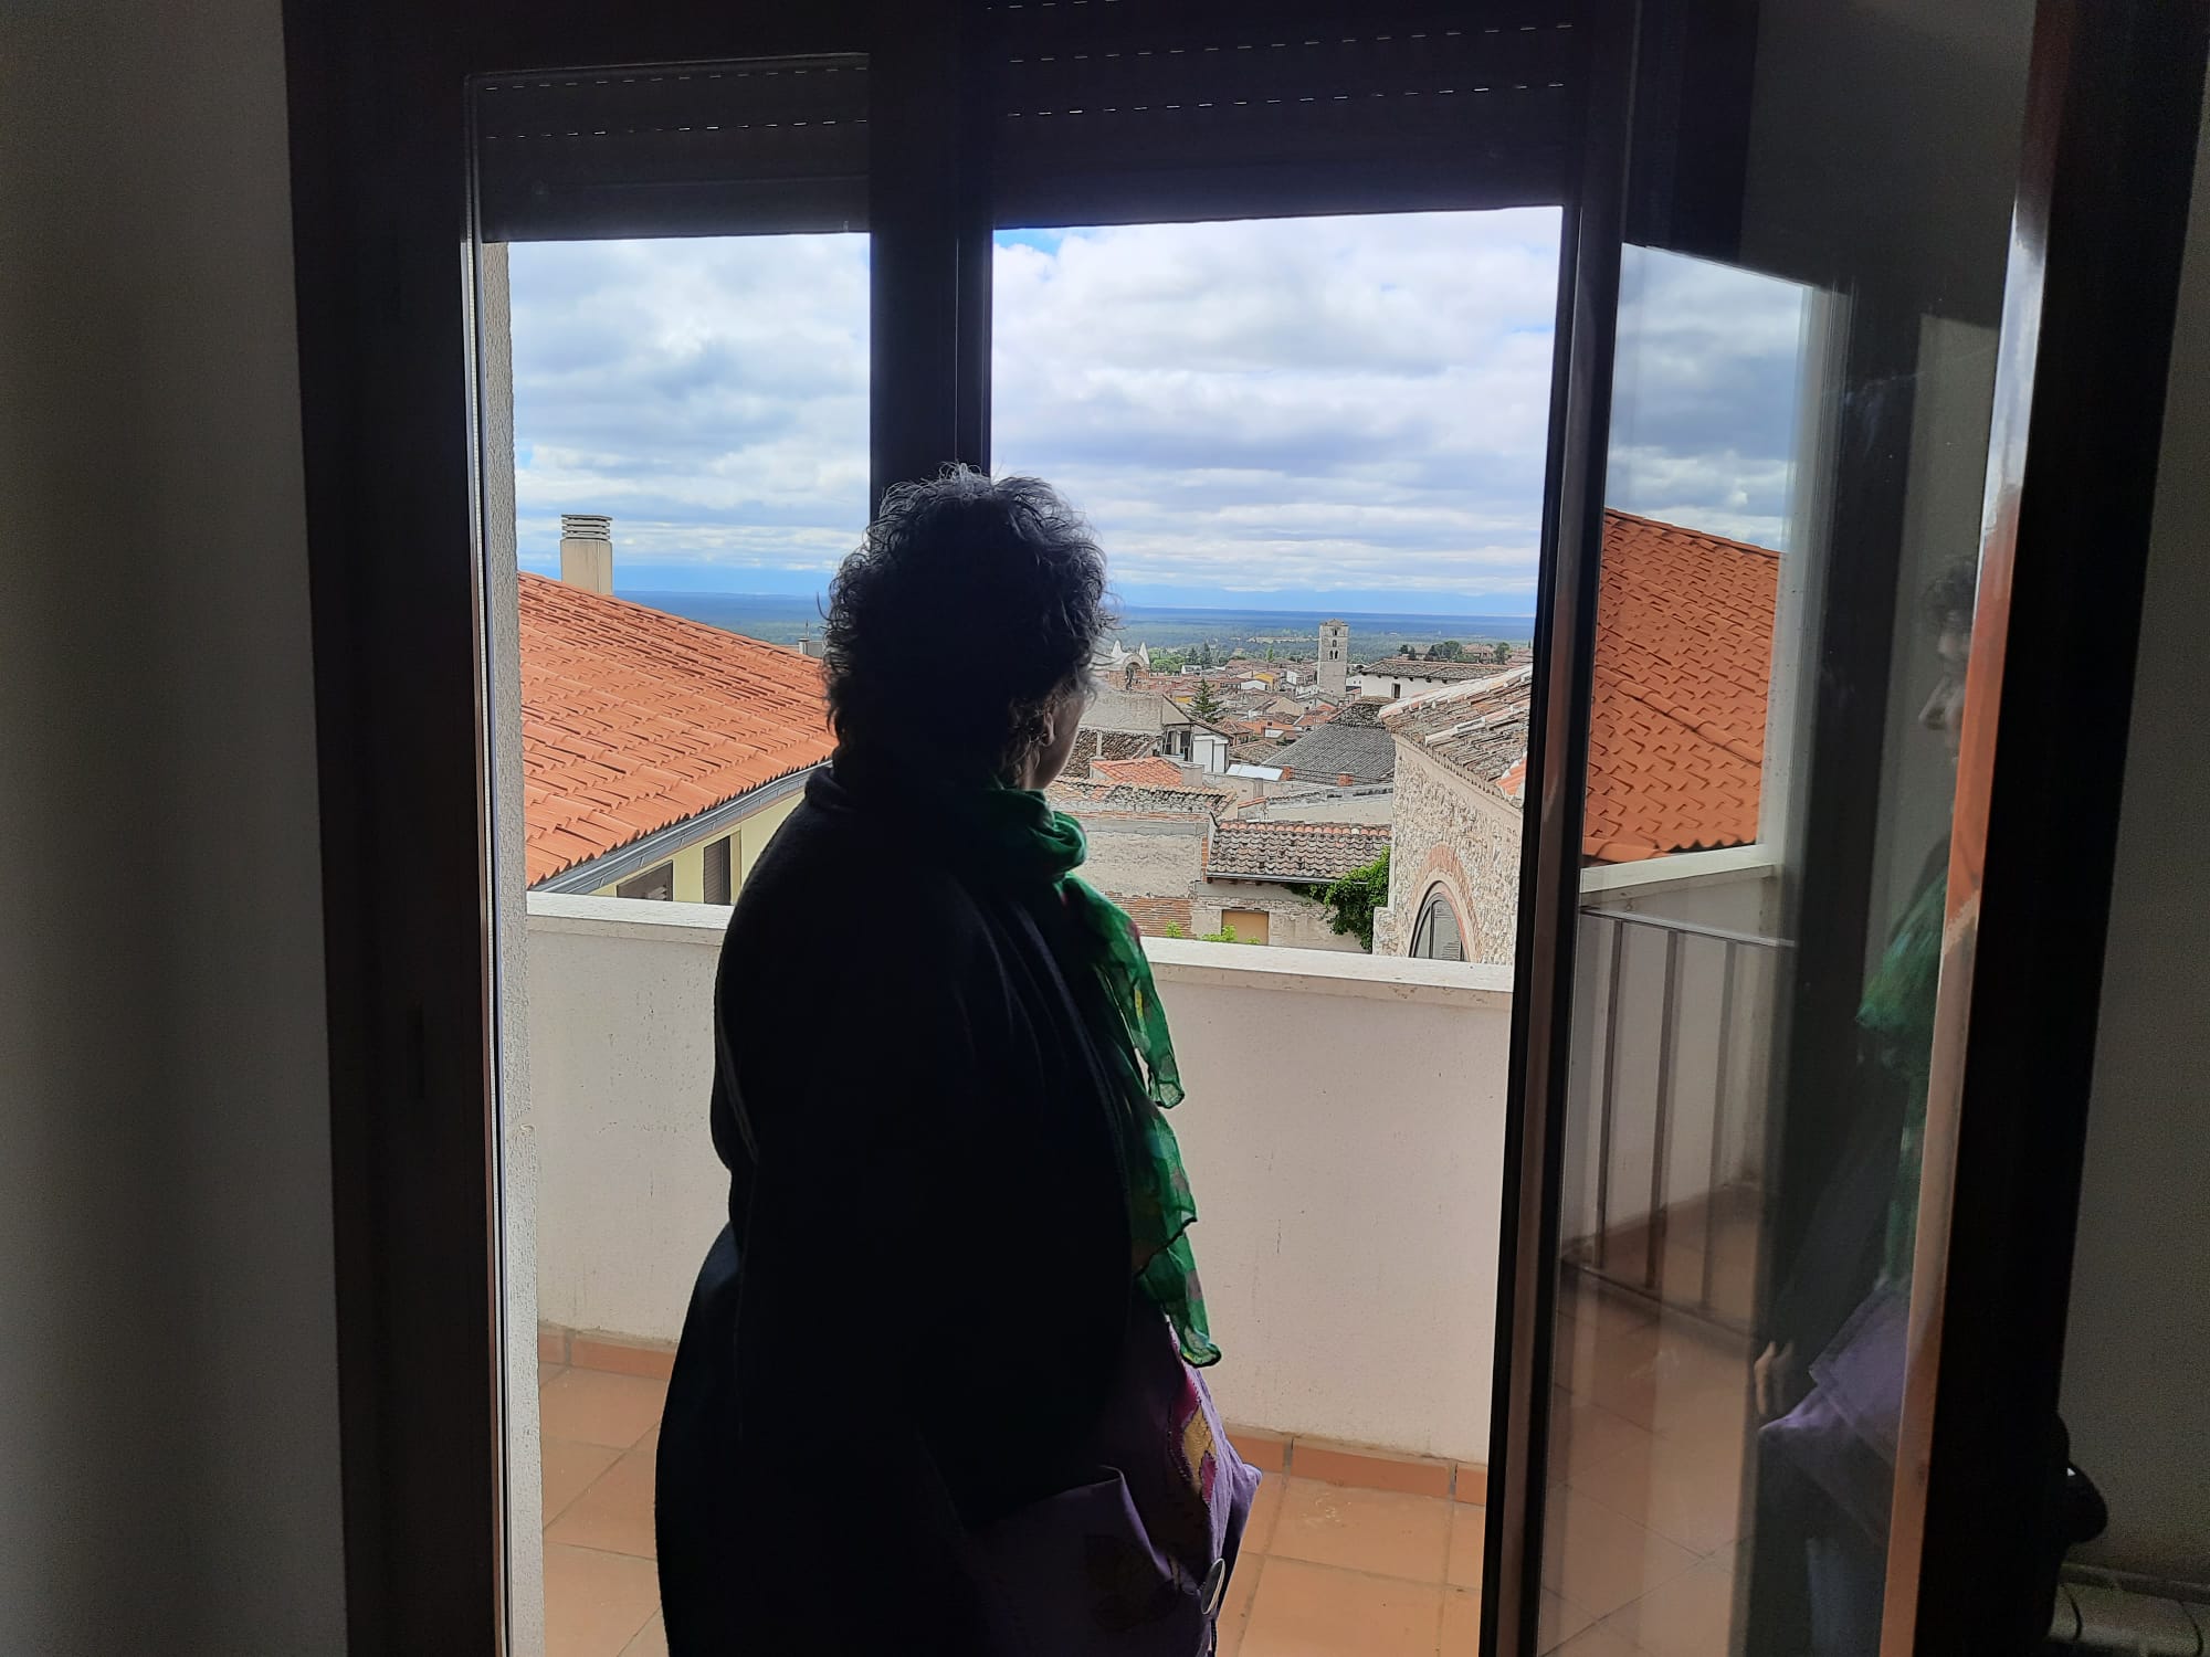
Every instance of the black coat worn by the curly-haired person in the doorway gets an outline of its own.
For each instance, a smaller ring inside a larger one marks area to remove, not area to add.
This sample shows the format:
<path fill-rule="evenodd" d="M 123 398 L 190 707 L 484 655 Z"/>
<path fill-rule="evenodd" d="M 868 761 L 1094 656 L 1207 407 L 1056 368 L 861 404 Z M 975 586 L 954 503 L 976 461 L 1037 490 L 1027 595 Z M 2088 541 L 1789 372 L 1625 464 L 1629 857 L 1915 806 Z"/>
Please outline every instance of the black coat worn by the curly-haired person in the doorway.
<path fill-rule="evenodd" d="M 659 1445 L 674 1657 L 990 1650 L 966 1529 L 1094 1476 L 1132 1295 L 1116 1105 L 1063 906 L 968 851 L 840 756 L 738 897 L 729 1226 Z"/>

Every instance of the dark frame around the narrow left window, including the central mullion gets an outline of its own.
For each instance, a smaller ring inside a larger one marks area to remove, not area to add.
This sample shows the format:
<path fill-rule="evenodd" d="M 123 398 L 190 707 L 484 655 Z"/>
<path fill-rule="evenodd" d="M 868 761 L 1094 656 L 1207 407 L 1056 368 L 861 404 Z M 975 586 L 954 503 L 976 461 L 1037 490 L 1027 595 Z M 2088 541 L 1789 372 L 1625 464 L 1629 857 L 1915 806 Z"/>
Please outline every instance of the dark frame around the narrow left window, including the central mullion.
<path fill-rule="evenodd" d="M 581 0 L 285 0 L 347 1589 L 360 1650 L 504 1650 L 508 1553 L 537 1544 L 506 1533 L 504 1502 L 484 1522 L 504 1487 L 511 1370 L 497 800 L 482 727 L 493 705 L 484 409 L 471 400 L 482 353 L 471 307 L 491 276 L 455 261 L 473 228 L 471 82 L 866 55 L 875 502 L 948 460 L 990 464 L 994 219 L 979 18 L 975 0 L 774 11 L 667 0 L 645 13 Z M 1204 194 L 1171 175 L 1143 190 L 1160 219 L 1193 217 Z M 1565 177 L 1558 194 L 1571 190 Z M 1315 197 L 1311 210 L 1344 201 Z M 455 707 L 480 718 L 455 720 Z M 484 1268 L 453 1268 L 466 1259 Z"/>

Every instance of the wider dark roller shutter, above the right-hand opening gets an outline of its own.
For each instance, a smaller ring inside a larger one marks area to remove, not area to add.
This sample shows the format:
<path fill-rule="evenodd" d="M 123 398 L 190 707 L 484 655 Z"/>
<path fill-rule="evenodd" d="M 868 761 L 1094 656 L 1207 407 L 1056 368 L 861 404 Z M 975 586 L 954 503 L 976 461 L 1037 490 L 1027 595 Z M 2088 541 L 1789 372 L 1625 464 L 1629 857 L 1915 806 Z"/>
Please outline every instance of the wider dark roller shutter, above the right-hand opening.
<path fill-rule="evenodd" d="M 999 225 L 1562 201 L 1574 0 L 992 0 Z"/>

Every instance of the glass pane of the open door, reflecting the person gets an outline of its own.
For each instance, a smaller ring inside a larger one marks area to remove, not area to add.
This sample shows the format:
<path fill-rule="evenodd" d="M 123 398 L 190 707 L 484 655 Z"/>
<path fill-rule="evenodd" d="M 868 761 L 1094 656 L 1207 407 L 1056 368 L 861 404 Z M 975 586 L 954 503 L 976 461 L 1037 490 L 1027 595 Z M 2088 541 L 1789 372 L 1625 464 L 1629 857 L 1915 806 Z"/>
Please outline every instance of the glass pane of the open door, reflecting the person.
<path fill-rule="evenodd" d="M 1540 1650 L 1878 1650 L 2031 22 L 1982 11 L 1896 80 L 1777 9 L 1726 256 L 1624 250 Z"/>

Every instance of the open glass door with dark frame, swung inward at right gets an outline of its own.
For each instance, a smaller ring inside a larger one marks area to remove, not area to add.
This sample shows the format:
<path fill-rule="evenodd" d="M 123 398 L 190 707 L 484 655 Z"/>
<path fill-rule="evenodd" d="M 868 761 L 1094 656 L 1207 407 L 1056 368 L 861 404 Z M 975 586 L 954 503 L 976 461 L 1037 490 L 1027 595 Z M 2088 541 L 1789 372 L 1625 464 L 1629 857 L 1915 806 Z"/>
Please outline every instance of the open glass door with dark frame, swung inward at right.
<path fill-rule="evenodd" d="M 2020 1034 L 1974 1005 L 1993 756 L 2044 740 L 1998 729 L 2004 656 L 2069 647 L 2007 605 L 2007 513 L 2051 155 L 2113 75 L 2091 35 L 2031 4 L 1777 4 L 1755 35 L 1642 9 L 1598 71 L 1536 641 L 1498 1653 L 1898 1657 L 1967 1604 L 1987 1650 L 2046 1626 L 2053 1345 L 2016 1354 L 2049 1403 L 2002 1449 L 1940 1471 L 1974 1429 L 1934 1399 L 1945 1301 L 1960 1363 L 2009 1339 L 1958 1301 L 2004 1248 L 1951 1253 L 1958 1204 L 1993 1226 L 1991 1191 L 2040 1193 L 2035 1224 L 2071 1224 L 2062 1169 L 1960 1158 L 1971 1122 L 2004 1133 L 1960 1078 Z M 2058 1138 L 2084 1087 L 2038 1105 Z M 1929 1518 L 1929 1467 L 1936 1500 L 2018 1491 L 1971 1520 L 2000 1569 L 1956 1571 L 1980 1542 Z"/>

